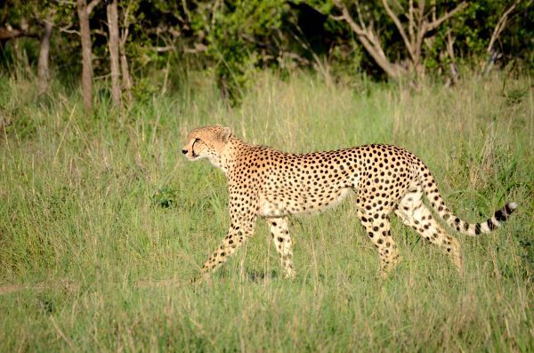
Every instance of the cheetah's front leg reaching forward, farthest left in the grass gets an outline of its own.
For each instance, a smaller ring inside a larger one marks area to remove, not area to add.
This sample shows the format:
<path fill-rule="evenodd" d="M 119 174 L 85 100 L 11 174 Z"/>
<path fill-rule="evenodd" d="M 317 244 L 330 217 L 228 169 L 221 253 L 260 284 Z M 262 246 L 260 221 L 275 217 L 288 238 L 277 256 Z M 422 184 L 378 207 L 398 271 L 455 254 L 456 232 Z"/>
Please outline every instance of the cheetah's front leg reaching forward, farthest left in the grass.
<path fill-rule="evenodd" d="M 228 261 L 248 237 L 252 237 L 254 228 L 255 215 L 235 217 L 231 221 L 230 229 L 228 229 L 228 234 L 224 237 L 223 243 L 215 249 L 214 253 L 200 269 L 200 278 L 194 278 L 192 282 L 200 282 L 202 279 L 209 278 L 215 269 L 218 269 L 224 262 Z"/>

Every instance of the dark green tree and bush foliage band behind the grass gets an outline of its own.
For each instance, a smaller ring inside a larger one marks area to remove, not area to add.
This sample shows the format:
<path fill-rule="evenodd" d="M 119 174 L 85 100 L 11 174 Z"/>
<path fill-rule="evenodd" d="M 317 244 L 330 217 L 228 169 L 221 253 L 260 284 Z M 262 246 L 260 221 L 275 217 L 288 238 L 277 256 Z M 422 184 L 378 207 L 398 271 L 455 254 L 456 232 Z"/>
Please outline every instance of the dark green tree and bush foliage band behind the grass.
<path fill-rule="evenodd" d="M 109 76 L 108 3 L 98 4 L 90 19 L 97 77 Z M 495 28 L 515 3 L 506 26 L 494 38 L 491 56 L 489 44 Z M 514 63 L 532 70 L 534 62 L 532 0 L 118 0 L 117 5 L 121 45 L 134 82 L 142 84 L 154 69 L 168 71 L 170 63 L 182 70 L 203 69 L 213 73 L 223 95 L 233 102 L 239 102 L 239 92 L 256 69 L 284 73 L 327 65 L 334 68 L 334 74 L 396 76 L 368 50 L 348 17 L 343 18 L 344 10 L 374 36 L 373 44 L 399 70 L 399 76 L 404 72 L 447 76 L 451 64 L 481 70 L 488 60 L 495 60 L 501 68 Z M 410 9 L 423 10 L 417 18 Z M 410 25 L 417 20 L 433 23 L 449 12 L 454 13 L 439 26 L 425 29 L 416 48 L 419 56 L 414 56 L 407 43 L 411 31 L 415 28 L 415 37 L 420 28 Z M 36 41 L 44 34 L 46 19 L 54 27 L 53 74 L 80 72 L 76 2 L 69 0 L 6 0 L 0 5 L 2 68 L 20 60 L 21 50 L 26 51 L 28 65 L 35 64 Z"/>

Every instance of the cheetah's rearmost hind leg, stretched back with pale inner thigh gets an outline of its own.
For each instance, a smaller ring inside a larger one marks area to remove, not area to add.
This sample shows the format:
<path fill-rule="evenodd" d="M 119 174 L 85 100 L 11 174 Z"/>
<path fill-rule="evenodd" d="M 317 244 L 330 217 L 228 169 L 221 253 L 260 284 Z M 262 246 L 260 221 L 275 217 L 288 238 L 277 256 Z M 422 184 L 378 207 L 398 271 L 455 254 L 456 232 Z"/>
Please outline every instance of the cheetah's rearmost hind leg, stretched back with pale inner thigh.
<path fill-rule="evenodd" d="M 457 239 L 451 237 L 434 219 L 433 214 L 423 204 L 423 193 L 420 190 L 402 197 L 395 214 L 405 225 L 415 229 L 421 237 L 440 246 L 443 253 L 454 263 L 460 276 L 464 274 L 462 254 Z"/>

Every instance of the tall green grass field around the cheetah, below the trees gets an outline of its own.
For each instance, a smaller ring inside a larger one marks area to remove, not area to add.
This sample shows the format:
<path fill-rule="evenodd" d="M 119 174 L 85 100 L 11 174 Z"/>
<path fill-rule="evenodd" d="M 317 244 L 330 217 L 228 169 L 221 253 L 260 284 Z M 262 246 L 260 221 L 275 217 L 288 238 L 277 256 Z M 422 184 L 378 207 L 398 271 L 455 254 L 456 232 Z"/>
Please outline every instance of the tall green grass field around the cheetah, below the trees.
<path fill-rule="evenodd" d="M 240 108 L 208 80 L 127 111 L 97 95 L 0 76 L 0 351 L 532 351 L 534 97 L 530 77 L 473 76 L 453 88 L 324 84 L 260 75 Z M 393 220 L 402 261 L 376 251 L 347 200 L 292 220 L 298 276 L 279 276 L 263 221 L 214 275 L 189 285 L 228 227 L 226 181 L 180 149 L 202 124 L 290 151 L 384 142 L 432 169 L 446 203 L 503 229 L 454 234 L 457 276 Z"/>

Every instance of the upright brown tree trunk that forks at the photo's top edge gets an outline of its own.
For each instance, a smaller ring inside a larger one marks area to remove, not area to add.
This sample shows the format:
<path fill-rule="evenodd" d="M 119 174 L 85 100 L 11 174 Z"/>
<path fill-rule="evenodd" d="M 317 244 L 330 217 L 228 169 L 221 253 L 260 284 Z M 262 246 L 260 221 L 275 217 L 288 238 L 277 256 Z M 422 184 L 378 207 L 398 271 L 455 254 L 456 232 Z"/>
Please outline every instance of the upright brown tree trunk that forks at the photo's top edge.
<path fill-rule="evenodd" d="M 93 0 L 89 5 L 85 0 L 77 0 L 77 13 L 80 21 L 80 36 L 82 37 L 82 93 L 87 110 L 93 109 L 93 51 L 91 49 L 91 28 L 89 15 L 99 0 Z"/>

